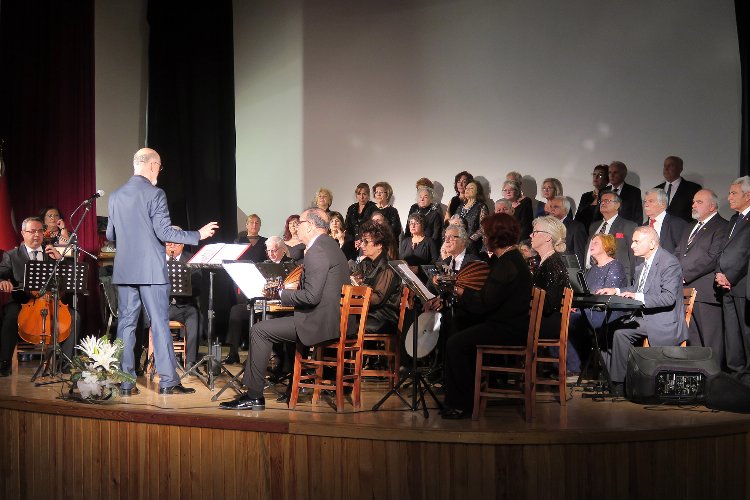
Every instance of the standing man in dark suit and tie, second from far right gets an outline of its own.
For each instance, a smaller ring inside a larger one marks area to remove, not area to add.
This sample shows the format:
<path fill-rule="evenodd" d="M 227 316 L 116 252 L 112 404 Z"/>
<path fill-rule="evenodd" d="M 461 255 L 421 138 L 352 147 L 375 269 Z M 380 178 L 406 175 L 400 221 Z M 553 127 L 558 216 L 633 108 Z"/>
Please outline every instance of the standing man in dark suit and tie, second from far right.
<path fill-rule="evenodd" d="M 685 286 L 698 292 L 693 319 L 688 327 L 688 344 L 713 349 L 719 364 L 724 361 L 724 332 L 721 302 L 714 289 L 716 261 L 726 238 L 727 221 L 718 213 L 719 198 L 710 189 L 693 196 L 691 217 L 697 220 L 682 234 L 675 255 L 682 266 Z"/>

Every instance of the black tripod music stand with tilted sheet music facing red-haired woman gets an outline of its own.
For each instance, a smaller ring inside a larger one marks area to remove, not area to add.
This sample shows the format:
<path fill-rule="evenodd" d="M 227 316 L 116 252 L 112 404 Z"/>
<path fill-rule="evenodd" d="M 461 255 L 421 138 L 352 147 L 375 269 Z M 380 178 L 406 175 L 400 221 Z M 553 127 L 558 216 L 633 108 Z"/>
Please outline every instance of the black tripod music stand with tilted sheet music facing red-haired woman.
<path fill-rule="evenodd" d="M 401 380 L 399 380 L 398 383 L 393 386 L 393 389 L 388 391 L 388 393 L 383 396 L 380 401 L 375 403 L 375 406 L 372 407 L 372 411 L 377 411 L 382 406 L 382 404 L 388 400 L 388 398 L 396 395 L 401 401 L 403 401 L 406 406 L 411 409 L 411 411 L 417 411 L 421 407 L 425 418 L 428 418 L 430 414 L 427 411 L 427 403 L 425 402 L 424 398 L 425 392 L 428 392 L 430 396 L 432 396 L 432 399 L 437 404 L 438 409 L 442 410 L 443 405 L 440 403 L 440 401 L 438 401 L 437 397 L 435 397 L 435 393 L 432 392 L 430 385 L 417 369 L 417 337 L 419 336 L 419 326 L 417 325 L 417 323 L 419 317 L 418 311 L 420 309 L 420 301 L 426 303 L 429 300 L 433 299 L 435 295 L 430 292 L 427 287 L 422 284 L 421 281 L 419 281 L 419 278 L 417 278 L 417 276 L 411 271 L 411 269 L 409 269 L 409 265 L 405 261 L 393 260 L 390 261 L 388 265 L 396 272 L 396 274 L 399 275 L 399 277 L 403 280 L 404 284 L 409 288 L 409 290 L 414 293 L 414 322 L 412 323 L 412 353 L 414 355 L 412 356 L 411 369 L 403 377 L 401 377 Z M 412 382 L 411 404 L 409 404 L 409 402 L 406 401 L 406 399 L 404 399 L 404 397 L 399 392 L 401 386 L 404 385 L 407 381 Z"/>

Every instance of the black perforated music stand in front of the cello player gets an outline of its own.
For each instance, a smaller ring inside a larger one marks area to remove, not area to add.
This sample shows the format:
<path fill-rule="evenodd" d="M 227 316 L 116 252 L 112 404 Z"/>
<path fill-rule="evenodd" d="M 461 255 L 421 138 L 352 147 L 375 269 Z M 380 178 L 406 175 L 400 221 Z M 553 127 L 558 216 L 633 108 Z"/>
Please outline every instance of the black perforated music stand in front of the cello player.
<path fill-rule="evenodd" d="M 58 317 L 58 304 L 60 299 L 60 292 L 73 291 L 78 285 L 78 289 L 85 290 L 85 286 L 81 284 L 81 280 L 85 280 L 88 277 L 88 268 L 85 264 L 80 264 L 78 267 L 74 267 L 70 264 L 61 264 L 62 260 L 50 262 L 50 261 L 29 261 L 25 265 L 24 269 L 24 291 L 26 292 L 39 292 L 40 299 L 47 293 L 53 294 L 53 317 L 55 321 L 51 322 L 52 326 L 52 342 L 50 344 L 50 350 L 47 350 L 47 343 L 45 342 L 44 333 L 42 333 L 42 360 L 39 363 L 34 375 L 31 377 L 31 381 L 34 382 L 38 377 L 46 376 L 49 374 L 51 377 L 57 376 L 57 361 L 59 359 L 65 359 L 68 363 L 71 362 L 58 343 L 59 336 L 59 323 Z M 76 272 L 76 270 L 78 272 Z M 76 283 L 77 278 L 77 283 Z M 85 283 L 85 281 L 84 281 Z M 37 300 L 40 300 L 37 299 Z M 75 314 L 75 310 L 73 311 Z M 51 318 L 50 318 L 51 319 Z M 42 325 L 46 323 L 46 317 L 42 319 Z M 74 328 L 75 325 L 71 325 Z M 75 337 L 74 337 L 75 338 Z M 43 383 L 36 383 L 37 386 L 48 385 L 57 382 L 64 382 L 64 380 L 54 380 Z"/>

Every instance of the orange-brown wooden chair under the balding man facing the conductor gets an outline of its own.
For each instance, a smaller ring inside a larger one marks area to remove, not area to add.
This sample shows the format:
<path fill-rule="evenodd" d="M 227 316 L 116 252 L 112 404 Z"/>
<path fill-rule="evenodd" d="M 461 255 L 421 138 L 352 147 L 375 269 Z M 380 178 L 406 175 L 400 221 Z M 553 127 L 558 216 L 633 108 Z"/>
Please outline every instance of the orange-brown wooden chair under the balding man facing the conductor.
<path fill-rule="evenodd" d="M 341 319 L 338 338 L 313 346 L 311 356 L 306 355 L 308 352 L 306 346 L 297 344 L 294 354 L 292 393 L 289 398 L 290 408 L 293 409 L 297 405 L 299 390 L 302 387 L 313 390 L 313 404 L 318 403 L 321 390 L 334 392 L 336 411 L 339 413 L 344 411 L 344 387 L 351 387 L 352 405 L 355 409 L 361 408 L 362 341 L 371 293 L 372 289 L 368 286 L 344 285 L 341 288 Z M 355 338 L 347 338 L 347 327 L 352 315 L 359 316 L 359 327 Z M 333 378 L 326 378 L 330 376 L 330 373 L 325 373 L 324 369 L 334 370 Z"/>

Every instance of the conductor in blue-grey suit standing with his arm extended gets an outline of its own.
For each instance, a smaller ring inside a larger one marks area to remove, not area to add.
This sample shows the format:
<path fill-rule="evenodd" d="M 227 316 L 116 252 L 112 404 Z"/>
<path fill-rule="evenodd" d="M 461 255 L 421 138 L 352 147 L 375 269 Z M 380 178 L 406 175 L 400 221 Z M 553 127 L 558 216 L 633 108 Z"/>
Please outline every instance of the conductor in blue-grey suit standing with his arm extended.
<path fill-rule="evenodd" d="M 117 243 L 112 283 L 117 285 L 117 338 L 125 343 L 122 370 L 135 376 L 133 347 L 141 303 L 151 318 L 156 370 L 161 394 L 195 392 L 180 384 L 177 360 L 169 333 L 169 278 L 166 242 L 197 245 L 213 236 L 219 227 L 210 222 L 198 231 L 172 227 L 167 196 L 156 187 L 161 157 L 153 149 L 138 150 L 133 157 L 134 175 L 109 196 L 107 239 Z M 134 385 L 123 383 L 123 396 L 138 394 Z"/>

